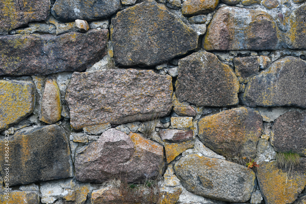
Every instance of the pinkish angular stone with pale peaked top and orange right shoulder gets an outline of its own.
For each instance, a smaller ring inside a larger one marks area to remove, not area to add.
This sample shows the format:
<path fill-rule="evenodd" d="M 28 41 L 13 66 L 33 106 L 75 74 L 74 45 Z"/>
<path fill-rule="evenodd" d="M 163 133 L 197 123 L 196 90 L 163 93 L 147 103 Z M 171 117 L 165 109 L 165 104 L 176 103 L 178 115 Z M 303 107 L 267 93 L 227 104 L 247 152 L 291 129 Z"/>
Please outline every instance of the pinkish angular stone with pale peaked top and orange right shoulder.
<path fill-rule="evenodd" d="M 136 133 L 109 129 L 88 146 L 77 150 L 75 178 L 103 182 L 122 176 L 127 182 L 150 178 L 163 167 L 163 147 Z"/>

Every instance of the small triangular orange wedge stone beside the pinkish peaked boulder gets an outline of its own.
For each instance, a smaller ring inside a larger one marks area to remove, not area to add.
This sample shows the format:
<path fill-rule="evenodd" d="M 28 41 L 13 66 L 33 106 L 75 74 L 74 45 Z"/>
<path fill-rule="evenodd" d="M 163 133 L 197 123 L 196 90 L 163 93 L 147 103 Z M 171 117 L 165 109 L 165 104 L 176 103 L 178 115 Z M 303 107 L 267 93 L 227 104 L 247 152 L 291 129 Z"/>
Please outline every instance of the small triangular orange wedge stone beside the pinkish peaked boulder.
<path fill-rule="evenodd" d="M 181 144 L 165 143 L 167 163 L 173 161 L 178 155 L 180 155 L 185 150 L 192 148 L 193 145 L 194 145 L 193 143 L 187 143 L 187 142 Z"/>

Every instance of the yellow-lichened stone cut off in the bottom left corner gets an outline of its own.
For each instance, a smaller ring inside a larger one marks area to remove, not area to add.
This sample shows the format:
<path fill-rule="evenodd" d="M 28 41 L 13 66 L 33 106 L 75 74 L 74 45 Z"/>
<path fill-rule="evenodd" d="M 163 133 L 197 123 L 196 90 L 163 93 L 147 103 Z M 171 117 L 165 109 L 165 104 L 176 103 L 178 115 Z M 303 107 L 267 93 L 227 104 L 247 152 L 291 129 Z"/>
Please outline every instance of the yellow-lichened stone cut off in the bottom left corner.
<path fill-rule="evenodd" d="M 9 191 L 9 199 L 7 195 L 0 193 L 0 203 L 3 204 L 39 204 L 38 191 Z"/>

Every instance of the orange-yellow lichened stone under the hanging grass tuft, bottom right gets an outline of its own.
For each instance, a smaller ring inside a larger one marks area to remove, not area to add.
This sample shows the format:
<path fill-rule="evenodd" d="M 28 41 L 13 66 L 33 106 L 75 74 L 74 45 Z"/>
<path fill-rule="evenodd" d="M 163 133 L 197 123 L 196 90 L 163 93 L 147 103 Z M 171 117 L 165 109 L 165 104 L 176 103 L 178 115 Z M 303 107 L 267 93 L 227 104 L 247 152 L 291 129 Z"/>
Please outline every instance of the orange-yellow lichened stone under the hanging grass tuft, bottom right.
<path fill-rule="evenodd" d="M 293 172 L 279 169 L 276 162 L 260 162 L 257 179 L 266 204 L 292 203 L 306 185 L 306 160 L 300 159 Z"/>

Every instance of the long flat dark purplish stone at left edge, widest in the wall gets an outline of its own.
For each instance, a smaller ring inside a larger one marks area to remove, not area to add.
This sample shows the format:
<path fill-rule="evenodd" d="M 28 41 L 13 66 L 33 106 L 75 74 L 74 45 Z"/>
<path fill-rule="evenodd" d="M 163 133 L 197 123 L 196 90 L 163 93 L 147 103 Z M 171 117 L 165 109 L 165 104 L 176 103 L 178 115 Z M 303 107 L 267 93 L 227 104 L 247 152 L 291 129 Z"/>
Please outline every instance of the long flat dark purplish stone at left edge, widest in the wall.
<path fill-rule="evenodd" d="M 83 71 L 106 55 L 107 37 L 106 29 L 58 36 L 0 36 L 0 76 Z"/>

